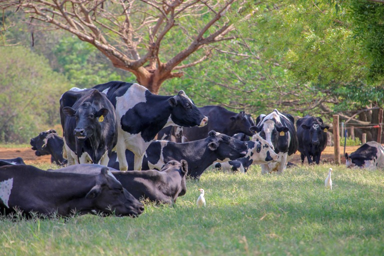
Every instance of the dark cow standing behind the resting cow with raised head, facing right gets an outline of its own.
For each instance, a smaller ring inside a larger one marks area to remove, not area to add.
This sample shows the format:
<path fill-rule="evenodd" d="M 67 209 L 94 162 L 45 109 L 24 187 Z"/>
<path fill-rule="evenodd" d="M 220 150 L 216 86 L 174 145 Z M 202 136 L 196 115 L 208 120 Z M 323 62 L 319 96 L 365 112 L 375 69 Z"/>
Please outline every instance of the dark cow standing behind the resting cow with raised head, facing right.
<path fill-rule="evenodd" d="M 176 140 L 176 142 L 203 139 L 208 135 L 210 130 L 215 130 L 228 136 L 233 136 L 235 133 L 239 132 L 252 136 L 249 127 L 254 125 L 254 121 L 250 114 L 246 114 L 244 111 L 239 113 L 232 112 L 217 105 L 198 107 L 198 109 L 201 113 L 208 116 L 208 124 L 204 127 L 183 127 L 181 140 Z M 178 134 L 175 128 L 172 128 L 171 134 L 173 134 L 173 136 Z M 179 136 L 175 137 L 178 138 Z"/>

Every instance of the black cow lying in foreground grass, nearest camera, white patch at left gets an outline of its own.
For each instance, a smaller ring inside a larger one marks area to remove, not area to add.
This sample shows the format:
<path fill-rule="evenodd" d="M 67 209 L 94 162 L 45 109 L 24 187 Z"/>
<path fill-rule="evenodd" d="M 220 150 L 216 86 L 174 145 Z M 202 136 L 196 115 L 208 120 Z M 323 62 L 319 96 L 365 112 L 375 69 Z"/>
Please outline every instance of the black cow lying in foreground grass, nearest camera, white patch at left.
<path fill-rule="evenodd" d="M 50 172 L 31 165 L 0 167 L 0 214 L 37 212 L 68 216 L 77 212 L 136 216 L 144 210 L 107 167 L 98 173 Z"/>

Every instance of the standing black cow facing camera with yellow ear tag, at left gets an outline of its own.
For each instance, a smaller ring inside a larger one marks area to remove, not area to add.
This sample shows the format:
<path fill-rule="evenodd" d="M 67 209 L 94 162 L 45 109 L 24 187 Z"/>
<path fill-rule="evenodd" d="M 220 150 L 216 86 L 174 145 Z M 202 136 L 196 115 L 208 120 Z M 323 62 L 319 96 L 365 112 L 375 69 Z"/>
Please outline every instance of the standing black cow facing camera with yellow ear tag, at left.
<path fill-rule="evenodd" d="M 117 143 L 113 105 L 96 89 L 72 88 L 60 98 L 60 119 L 68 165 L 108 164 Z"/>

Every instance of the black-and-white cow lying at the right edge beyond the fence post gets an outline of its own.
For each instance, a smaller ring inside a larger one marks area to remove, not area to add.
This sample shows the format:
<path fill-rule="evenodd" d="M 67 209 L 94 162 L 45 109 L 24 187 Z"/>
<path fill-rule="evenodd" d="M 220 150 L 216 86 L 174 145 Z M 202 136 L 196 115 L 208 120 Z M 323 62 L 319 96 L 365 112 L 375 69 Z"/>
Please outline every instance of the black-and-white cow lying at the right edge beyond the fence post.
<path fill-rule="evenodd" d="M 345 153 L 345 159 L 346 167 L 383 168 L 384 147 L 376 141 L 368 141 L 350 155 Z"/>

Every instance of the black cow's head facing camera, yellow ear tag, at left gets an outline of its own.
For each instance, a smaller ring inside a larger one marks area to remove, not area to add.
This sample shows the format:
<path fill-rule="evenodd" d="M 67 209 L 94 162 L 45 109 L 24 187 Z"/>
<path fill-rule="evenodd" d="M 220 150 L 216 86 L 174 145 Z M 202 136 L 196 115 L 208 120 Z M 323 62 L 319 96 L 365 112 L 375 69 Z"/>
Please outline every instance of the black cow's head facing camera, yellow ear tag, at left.
<path fill-rule="evenodd" d="M 92 136 L 96 128 L 100 127 L 100 122 L 108 114 L 108 109 L 104 107 L 96 109 L 92 103 L 84 102 L 77 109 L 70 106 L 63 107 L 62 112 L 68 117 L 75 117 L 76 127 L 73 135 L 79 140 L 84 140 Z"/>

